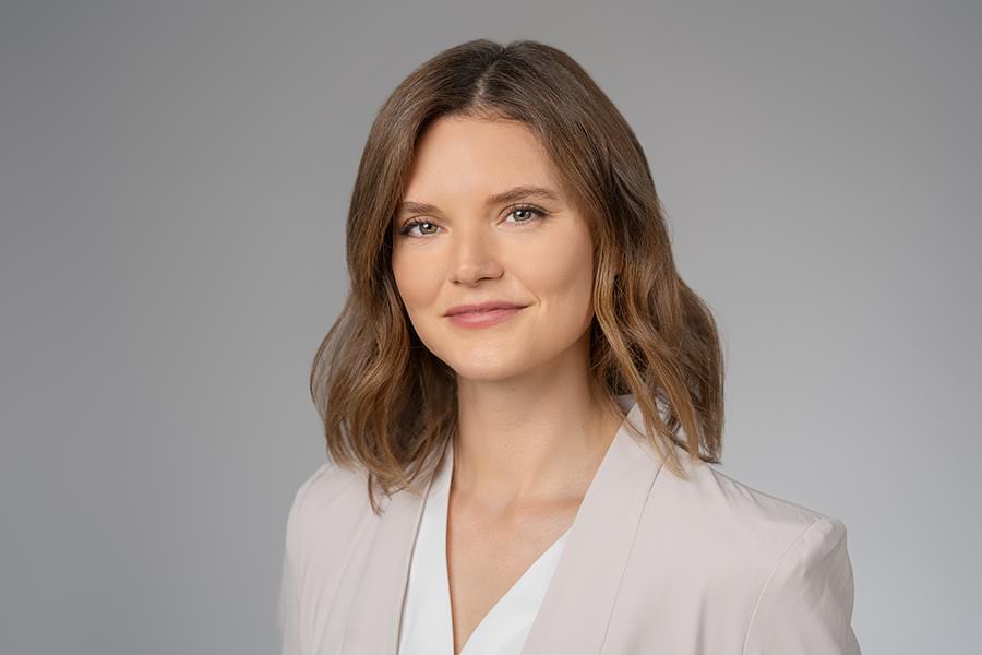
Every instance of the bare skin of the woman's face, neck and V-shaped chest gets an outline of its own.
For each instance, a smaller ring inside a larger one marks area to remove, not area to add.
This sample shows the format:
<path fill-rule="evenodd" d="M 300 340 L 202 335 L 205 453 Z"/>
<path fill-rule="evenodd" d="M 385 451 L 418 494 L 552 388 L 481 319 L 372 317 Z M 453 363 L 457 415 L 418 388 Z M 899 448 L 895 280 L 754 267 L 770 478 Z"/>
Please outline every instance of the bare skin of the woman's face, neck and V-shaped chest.
<path fill-rule="evenodd" d="M 486 204 L 523 186 L 558 198 Z M 420 139 L 404 201 L 432 209 L 393 222 L 396 285 L 420 340 L 457 376 L 447 565 L 459 652 L 572 525 L 621 419 L 590 397 L 587 378 L 590 227 L 536 135 L 515 121 L 440 118 Z M 444 315 L 487 300 L 526 307 L 479 329 Z"/>

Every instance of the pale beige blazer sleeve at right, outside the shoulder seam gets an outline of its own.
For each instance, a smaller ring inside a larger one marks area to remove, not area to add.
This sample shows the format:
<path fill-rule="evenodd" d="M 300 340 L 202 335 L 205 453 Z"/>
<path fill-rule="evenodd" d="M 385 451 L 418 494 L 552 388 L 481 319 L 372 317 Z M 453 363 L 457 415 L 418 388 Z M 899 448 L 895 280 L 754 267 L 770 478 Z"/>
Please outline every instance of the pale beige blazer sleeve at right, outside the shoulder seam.
<path fill-rule="evenodd" d="M 744 655 L 861 655 L 852 630 L 846 525 L 813 521 L 778 558 L 747 626 Z"/>

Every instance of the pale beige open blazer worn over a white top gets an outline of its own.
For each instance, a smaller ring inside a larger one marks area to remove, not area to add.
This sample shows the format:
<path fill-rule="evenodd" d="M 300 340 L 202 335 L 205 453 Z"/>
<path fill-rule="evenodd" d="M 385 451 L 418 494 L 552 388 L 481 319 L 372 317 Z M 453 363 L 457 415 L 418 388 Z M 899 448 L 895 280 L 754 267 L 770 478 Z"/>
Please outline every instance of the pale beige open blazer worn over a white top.
<path fill-rule="evenodd" d="M 633 396 L 579 507 L 524 655 L 860 655 L 846 526 L 705 462 L 662 472 Z M 450 449 L 447 449 L 447 452 Z M 445 455 L 444 455 L 445 456 Z M 396 655 L 424 496 L 321 465 L 286 525 L 284 655 Z M 427 484 L 427 490 L 429 483 Z"/>

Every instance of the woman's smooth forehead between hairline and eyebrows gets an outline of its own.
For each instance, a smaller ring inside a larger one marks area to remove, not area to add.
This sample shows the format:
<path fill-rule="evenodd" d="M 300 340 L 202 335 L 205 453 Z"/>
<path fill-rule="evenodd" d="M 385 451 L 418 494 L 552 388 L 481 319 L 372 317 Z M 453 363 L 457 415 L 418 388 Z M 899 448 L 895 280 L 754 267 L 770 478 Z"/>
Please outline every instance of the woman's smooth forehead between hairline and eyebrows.
<path fill-rule="evenodd" d="M 523 122 L 441 117 L 422 133 L 404 196 L 487 195 L 518 186 L 559 190 L 558 171 L 538 136 Z"/>

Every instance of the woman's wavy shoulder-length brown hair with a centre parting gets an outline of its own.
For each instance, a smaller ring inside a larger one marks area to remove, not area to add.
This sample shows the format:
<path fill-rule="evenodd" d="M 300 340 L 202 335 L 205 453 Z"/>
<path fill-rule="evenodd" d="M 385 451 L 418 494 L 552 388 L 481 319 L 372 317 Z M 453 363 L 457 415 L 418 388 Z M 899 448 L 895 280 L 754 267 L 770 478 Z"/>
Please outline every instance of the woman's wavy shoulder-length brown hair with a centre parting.
<path fill-rule="evenodd" d="M 646 438 L 676 476 L 685 477 L 673 444 L 692 462 L 718 463 L 719 337 L 708 307 L 675 271 L 644 150 L 568 55 L 535 40 L 488 39 L 422 63 L 372 123 L 348 211 L 350 290 L 310 377 L 330 457 L 368 474 L 379 514 L 374 489 L 411 489 L 457 429 L 454 371 L 416 334 L 391 265 L 393 215 L 414 152 L 443 116 L 520 121 L 539 138 L 594 235 L 591 394 L 622 417 L 614 396 L 633 394 Z"/>

